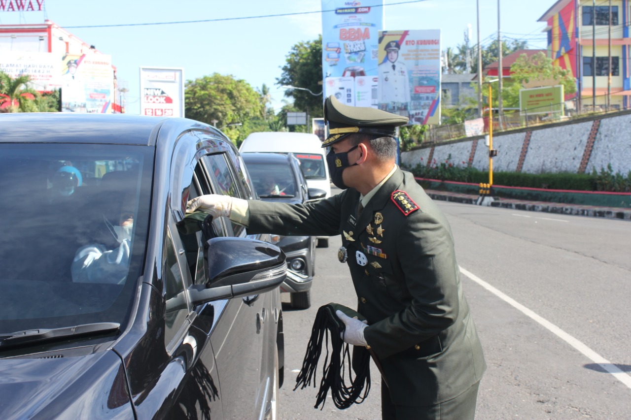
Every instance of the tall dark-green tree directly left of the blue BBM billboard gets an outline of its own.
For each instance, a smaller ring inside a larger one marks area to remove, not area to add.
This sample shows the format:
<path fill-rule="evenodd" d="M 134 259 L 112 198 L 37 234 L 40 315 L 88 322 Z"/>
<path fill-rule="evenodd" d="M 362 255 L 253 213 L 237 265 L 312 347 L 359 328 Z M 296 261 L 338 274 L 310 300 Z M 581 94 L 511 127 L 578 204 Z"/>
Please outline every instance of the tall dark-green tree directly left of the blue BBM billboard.
<path fill-rule="evenodd" d="M 286 55 L 283 73 L 276 79 L 278 86 L 296 86 L 313 93 L 322 91 L 322 35 L 316 40 L 298 42 Z M 288 89 L 285 96 L 294 100 L 300 112 L 309 112 L 309 117 L 322 117 L 322 95 L 311 95 L 304 90 Z"/>

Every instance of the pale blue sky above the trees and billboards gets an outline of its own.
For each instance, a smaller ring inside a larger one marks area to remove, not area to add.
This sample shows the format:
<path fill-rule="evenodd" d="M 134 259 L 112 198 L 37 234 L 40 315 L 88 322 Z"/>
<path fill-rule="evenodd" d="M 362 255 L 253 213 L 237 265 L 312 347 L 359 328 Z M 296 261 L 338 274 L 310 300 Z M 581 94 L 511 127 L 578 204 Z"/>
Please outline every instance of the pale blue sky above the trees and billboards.
<path fill-rule="evenodd" d="M 380 0 L 361 0 L 371 6 Z M 475 0 L 384 0 L 387 30 L 440 29 L 442 49 L 456 47 L 471 24 L 477 42 Z M 497 0 L 480 0 L 483 45 L 497 37 Z M 527 38 L 530 48 L 545 49 L 545 24 L 538 22 L 552 0 L 501 0 L 502 33 Z M 119 81 L 127 83 L 127 112 L 140 111 L 139 67 L 183 67 L 185 79 L 213 73 L 232 74 L 252 87 L 271 88 L 272 105 L 282 107 L 285 90 L 275 85 L 285 56 L 294 44 L 322 33 L 319 13 L 255 19 L 248 16 L 280 15 L 321 10 L 321 0 L 45 0 L 44 12 L 0 12 L 0 24 L 41 23 L 45 18 L 66 28 L 103 54 L 112 55 Z M 192 20 L 204 23 L 73 28 Z"/>

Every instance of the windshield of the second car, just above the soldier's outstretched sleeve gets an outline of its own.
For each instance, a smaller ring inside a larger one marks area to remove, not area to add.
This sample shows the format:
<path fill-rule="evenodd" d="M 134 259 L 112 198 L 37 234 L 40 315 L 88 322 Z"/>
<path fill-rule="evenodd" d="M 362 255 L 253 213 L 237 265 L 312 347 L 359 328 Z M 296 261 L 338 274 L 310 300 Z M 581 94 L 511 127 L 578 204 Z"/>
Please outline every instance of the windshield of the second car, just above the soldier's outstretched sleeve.
<path fill-rule="evenodd" d="M 259 197 L 293 197 L 297 194 L 292 167 L 286 161 L 283 164 L 246 161 L 246 165 Z"/>

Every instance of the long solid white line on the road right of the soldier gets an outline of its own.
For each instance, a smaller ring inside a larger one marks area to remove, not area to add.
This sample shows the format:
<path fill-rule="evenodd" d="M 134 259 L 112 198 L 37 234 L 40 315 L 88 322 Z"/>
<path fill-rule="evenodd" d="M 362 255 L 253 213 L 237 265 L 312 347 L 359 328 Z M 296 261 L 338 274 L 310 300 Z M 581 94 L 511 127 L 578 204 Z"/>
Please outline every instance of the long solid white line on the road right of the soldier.
<path fill-rule="evenodd" d="M 527 315 L 528 317 L 532 318 L 534 321 L 536 321 L 539 324 L 543 325 L 543 327 L 548 329 L 553 334 L 557 335 L 557 337 L 559 337 L 563 341 L 567 342 L 567 344 L 569 344 L 570 346 L 572 346 L 575 349 L 577 349 L 578 351 L 580 351 L 588 359 L 590 359 L 594 363 L 598 363 L 598 365 L 600 365 L 601 368 L 603 368 L 605 371 L 608 371 L 609 373 L 611 373 L 611 375 L 613 375 L 617 380 L 619 380 L 623 384 L 627 385 L 628 388 L 631 388 L 631 376 L 627 375 L 627 373 L 625 373 L 622 370 L 620 370 L 618 368 L 618 366 L 615 366 L 613 363 L 611 363 L 607 359 L 603 358 L 603 356 L 600 356 L 598 353 L 596 353 L 595 351 L 593 351 L 592 349 L 587 347 L 581 341 L 579 341 L 579 340 L 575 339 L 574 337 L 572 337 L 572 335 L 567 334 L 567 332 L 565 332 L 562 329 L 560 329 L 559 327 L 557 327 L 557 325 L 554 325 L 550 321 L 546 320 L 545 318 L 540 317 L 539 315 L 537 315 L 533 311 L 531 311 L 528 308 L 526 308 L 526 306 L 521 305 L 521 303 L 519 303 L 516 300 L 514 300 L 514 299 L 510 298 L 509 296 L 505 295 L 504 293 L 502 293 L 498 289 L 496 289 L 493 286 L 491 286 L 490 284 L 488 284 L 486 281 L 480 279 L 480 277 L 478 277 L 475 274 L 463 269 L 463 267 L 459 267 L 459 268 L 460 268 L 460 272 L 462 272 L 465 276 L 469 277 L 469 279 L 471 279 L 471 280 L 475 281 L 476 283 L 480 284 L 480 286 L 482 286 L 483 288 L 485 288 L 488 291 L 490 291 L 491 293 L 493 293 L 493 295 L 497 296 L 498 298 L 500 298 L 501 300 L 505 301 L 509 305 L 513 306 L 514 308 L 516 308 L 520 312 L 524 313 L 524 315 Z"/>

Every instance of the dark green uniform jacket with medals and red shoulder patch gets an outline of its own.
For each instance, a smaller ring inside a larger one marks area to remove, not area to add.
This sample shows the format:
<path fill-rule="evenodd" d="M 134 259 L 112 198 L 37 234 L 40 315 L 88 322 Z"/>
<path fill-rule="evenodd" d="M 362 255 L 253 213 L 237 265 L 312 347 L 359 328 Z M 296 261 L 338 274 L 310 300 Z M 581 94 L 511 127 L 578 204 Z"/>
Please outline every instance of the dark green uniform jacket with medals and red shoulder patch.
<path fill-rule="evenodd" d="M 397 169 L 358 215 L 348 189 L 307 205 L 249 201 L 249 233 L 341 234 L 392 402 L 434 405 L 478 382 L 486 363 L 460 283 L 451 228 L 416 183 Z M 363 347 L 355 347 L 362 349 Z"/>

